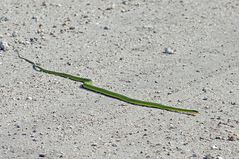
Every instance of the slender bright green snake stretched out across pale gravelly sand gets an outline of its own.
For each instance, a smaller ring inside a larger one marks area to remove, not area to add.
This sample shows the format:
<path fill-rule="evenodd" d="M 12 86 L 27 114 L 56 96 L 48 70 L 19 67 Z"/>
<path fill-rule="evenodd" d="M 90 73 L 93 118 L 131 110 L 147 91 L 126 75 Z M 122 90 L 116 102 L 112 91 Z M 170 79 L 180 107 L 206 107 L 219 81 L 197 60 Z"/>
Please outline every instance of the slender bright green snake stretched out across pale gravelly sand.
<path fill-rule="evenodd" d="M 115 92 L 112 92 L 112 91 L 108 91 L 108 90 L 100 88 L 100 87 L 96 87 L 96 86 L 93 85 L 93 82 L 92 82 L 91 79 L 81 78 L 81 77 L 73 76 L 73 75 L 70 75 L 70 74 L 67 74 L 67 73 L 47 70 L 45 68 L 40 67 L 38 64 L 32 62 L 31 60 L 28 60 L 28 59 L 20 56 L 19 53 L 18 53 L 18 57 L 20 59 L 23 59 L 26 62 L 32 64 L 34 70 L 36 70 L 36 71 L 44 72 L 44 73 L 55 75 L 55 76 L 60 76 L 60 77 L 63 77 L 63 78 L 70 79 L 72 81 L 82 82 L 83 83 L 82 87 L 87 89 L 87 90 L 90 90 L 90 91 L 93 91 L 93 92 L 96 92 L 96 93 L 99 93 L 99 94 L 103 94 L 105 96 L 112 97 L 112 98 L 124 101 L 126 103 L 130 103 L 130 104 L 133 104 L 133 105 L 144 106 L 144 107 L 150 107 L 150 108 L 158 108 L 158 109 L 163 109 L 163 110 L 167 110 L 167 111 L 172 111 L 172 112 L 177 112 L 177 113 L 182 113 L 182 114 L 187 114 L 187 115 L 193 115 L 193 116 L 196 115 L 196 114 L 199 114 L 199 112 L 196 111 L 196 110 L 176 108 L 176 107 L 166 106 L 166 105 L 162 105 L 162 104 L 158 104 L 158 103 L 146 102 L 146 101 L 142 101 L 142 100 L 129 98 L 125 95 L 118 94 L 118 93 L 115 93 Z"/>

